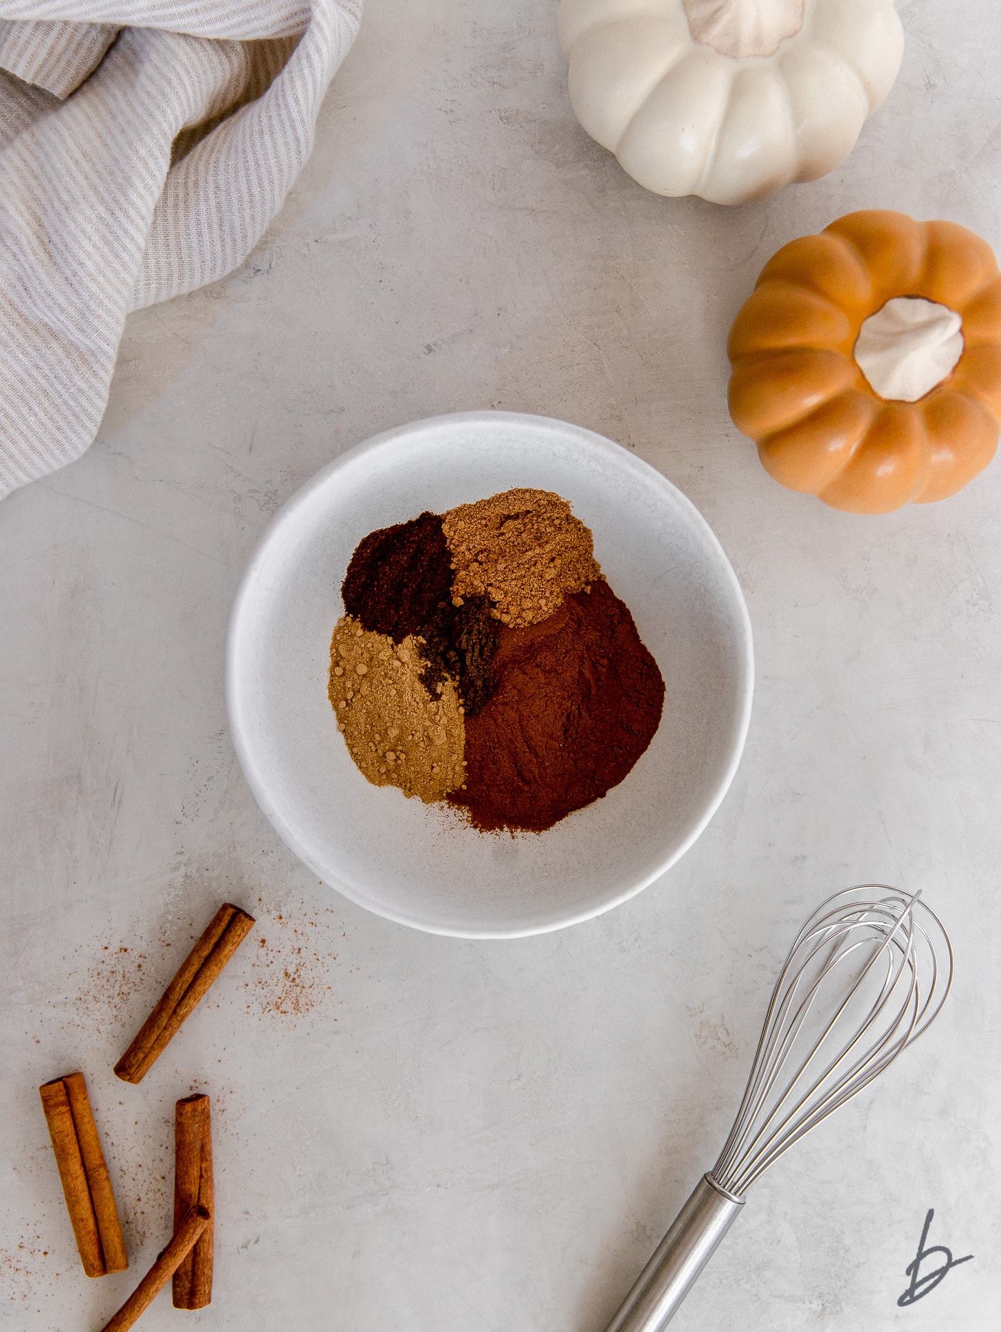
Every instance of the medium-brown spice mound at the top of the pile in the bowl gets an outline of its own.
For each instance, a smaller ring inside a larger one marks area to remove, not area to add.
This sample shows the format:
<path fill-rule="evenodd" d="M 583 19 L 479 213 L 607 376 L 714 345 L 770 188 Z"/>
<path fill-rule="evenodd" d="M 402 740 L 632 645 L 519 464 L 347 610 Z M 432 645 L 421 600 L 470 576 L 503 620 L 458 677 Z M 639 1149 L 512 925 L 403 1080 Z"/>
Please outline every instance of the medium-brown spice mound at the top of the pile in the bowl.
<path fill-rule="evenodd" d="M 487 595 L 512 629 L 538 623 L 601 577 L 590 529 L 552 490 L 518 488 L 459 505 L 443 529 L 453 599 Z"/>

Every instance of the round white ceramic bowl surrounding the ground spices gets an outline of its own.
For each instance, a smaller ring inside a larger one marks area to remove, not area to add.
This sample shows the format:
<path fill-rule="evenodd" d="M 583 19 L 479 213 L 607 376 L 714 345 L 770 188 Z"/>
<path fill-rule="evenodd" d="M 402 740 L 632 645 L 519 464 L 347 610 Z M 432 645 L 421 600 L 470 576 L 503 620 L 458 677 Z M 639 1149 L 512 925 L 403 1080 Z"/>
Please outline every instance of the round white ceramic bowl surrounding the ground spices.
<path fill-rule="evenodd" d="M 542 834 L 481 834 L 371 786 L 327 699 L 352 551 L 375 527 L 512 486 L 556 490 L 664 675 L 664 718 L 608 795 Z M 694 842 L 726 791 L 750 714 L 750 623 L 705 519 L 628 450 L 545 417 L 468 412 L 377 436 L 279 510 L 236 597 L 227 702 L 236 753 L 279 835 L 352 902 L 468 938 L 586 920 Z"/>

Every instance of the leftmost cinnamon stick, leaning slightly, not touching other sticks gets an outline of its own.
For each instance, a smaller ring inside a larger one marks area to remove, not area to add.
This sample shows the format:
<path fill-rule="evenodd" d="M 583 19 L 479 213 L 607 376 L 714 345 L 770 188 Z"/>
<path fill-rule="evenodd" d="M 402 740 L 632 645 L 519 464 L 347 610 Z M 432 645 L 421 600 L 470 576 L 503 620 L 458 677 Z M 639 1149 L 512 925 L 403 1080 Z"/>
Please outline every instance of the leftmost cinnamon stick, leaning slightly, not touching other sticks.
<path fill-rule="evenodd" d="M 84 1272 L 123 1272 L 125 1241 L 84 1075 L 56 1078 L 39 1087 L 39 1095 Z"/>

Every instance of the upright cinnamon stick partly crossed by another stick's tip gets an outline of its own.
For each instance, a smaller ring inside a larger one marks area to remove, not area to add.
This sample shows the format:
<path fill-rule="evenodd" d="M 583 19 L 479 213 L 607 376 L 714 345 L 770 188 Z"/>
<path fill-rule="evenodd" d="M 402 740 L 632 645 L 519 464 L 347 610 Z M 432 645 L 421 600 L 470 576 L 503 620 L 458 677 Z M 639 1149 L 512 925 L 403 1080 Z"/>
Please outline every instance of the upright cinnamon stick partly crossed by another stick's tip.
<path fill-rule="evenodd" d="M 173 1118 L 173 1224 L 188 1208 L 201 1204 L 215 1216 L 212 1184 L 212 1122 L 208 1096 L 185 1096 Z M 212 1303 L 212 1240 L 209 1220 L 197 1244 L 173 1273 L 173 1307 L 204 1309 Z"/>

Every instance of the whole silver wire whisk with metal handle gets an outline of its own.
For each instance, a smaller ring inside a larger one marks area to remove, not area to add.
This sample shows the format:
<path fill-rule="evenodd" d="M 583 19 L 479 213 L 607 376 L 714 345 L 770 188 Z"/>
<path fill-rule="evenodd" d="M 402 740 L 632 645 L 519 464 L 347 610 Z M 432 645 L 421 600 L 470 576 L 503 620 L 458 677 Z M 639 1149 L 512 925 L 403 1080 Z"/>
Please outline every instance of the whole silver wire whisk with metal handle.
<path fill-rule="evenodd" d="M 608 1332 L 661 1332 L 773 1162 L 878 1078 L 938 1016 L 953 952 L 941 922 L 898 888 L 822 902 L 789 950 L 744 1100 Z"/>

